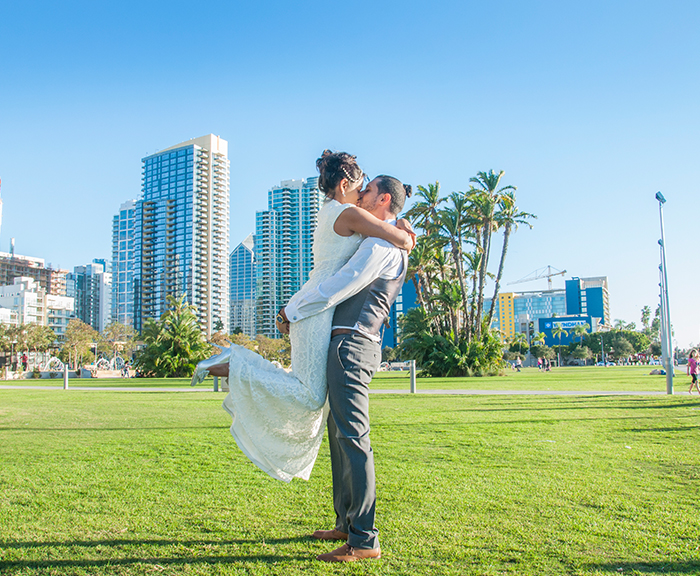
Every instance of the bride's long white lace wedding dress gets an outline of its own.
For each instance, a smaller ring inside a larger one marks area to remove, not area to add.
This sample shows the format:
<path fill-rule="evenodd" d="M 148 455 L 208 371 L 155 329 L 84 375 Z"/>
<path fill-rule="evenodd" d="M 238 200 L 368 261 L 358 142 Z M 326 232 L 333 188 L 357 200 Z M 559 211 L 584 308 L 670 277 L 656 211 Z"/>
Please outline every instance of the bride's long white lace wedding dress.
<path fill-rule="evenodd" d="M 314 232 L 314 270 L 299 293 L 335 274 L 355 253 L 362 236 L 339 236 L 336 218 L 350 204 L 327 201 Z M 292 371 L 233 345 L 224 409 L 243 453 L 273 478 L 308 480 L 323 438 L 327 409 L 326 361 L 334 308 L 291 325 Z"/>

